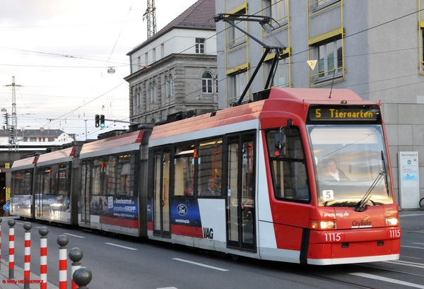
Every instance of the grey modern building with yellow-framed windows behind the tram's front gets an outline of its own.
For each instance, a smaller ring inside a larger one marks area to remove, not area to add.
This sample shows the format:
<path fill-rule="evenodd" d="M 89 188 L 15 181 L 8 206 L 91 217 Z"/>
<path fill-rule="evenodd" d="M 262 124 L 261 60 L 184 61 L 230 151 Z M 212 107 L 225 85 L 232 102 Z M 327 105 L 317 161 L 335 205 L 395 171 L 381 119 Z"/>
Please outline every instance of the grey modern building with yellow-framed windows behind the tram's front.
<path fill-rule="evenodd" d="M 273 86 L 348 88 L 381 102 L 398 200 L 398 156 L 405 151 L 420 156 L 424 196 L 423 8 L 423 0 L 216 0 L 216 13 L 273 18 L 270 29 L 286 47 Z M 259 23 L 237 26 L 271 42 Z M 216 31 L 218 51 L 223 51 L 218 54 L 218 107 L 224 108 L 240 97 L 264 48 L 223 21 Z M 272 58 L 266 57 L 245 100 L 264 88 Z"/>

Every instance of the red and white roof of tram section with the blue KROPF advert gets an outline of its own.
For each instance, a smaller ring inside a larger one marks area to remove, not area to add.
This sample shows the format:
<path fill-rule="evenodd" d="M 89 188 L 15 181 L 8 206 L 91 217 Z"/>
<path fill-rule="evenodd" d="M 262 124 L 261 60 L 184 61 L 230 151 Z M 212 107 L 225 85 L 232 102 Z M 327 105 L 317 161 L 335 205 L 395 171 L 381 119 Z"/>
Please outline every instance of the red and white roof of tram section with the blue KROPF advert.
<path fill-rule="evenodd" d="M 91 158 L 98 155 L 110 155 L 126 151 L 138 151 L 144 131 L 133 131 L 120 136 L 84 143 L 80 158 Z"/>

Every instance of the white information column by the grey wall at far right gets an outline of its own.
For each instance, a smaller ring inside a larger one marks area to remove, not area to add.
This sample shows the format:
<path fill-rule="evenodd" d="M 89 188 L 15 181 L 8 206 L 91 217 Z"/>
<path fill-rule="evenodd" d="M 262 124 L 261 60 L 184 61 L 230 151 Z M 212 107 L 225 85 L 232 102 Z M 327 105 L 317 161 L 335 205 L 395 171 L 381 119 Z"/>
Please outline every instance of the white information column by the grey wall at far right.
<path fill-rule="evenodd" d="M 420 179 L 418 170 L 418 151 L 400 151 L 399 205 L 403 209 L 420 207 Z"/>

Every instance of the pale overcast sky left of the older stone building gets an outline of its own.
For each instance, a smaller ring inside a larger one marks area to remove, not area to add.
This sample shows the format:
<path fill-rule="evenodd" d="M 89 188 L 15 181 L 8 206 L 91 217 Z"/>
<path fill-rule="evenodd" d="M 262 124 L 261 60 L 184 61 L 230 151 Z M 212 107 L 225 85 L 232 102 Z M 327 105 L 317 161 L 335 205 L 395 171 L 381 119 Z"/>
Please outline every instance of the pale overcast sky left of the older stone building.
<path fill-rule="evenodd" d="M 157 31 L 195 2 L 155 0 Z M 107 121 L 100 130 L 94 119 L 129 121 L 126 54 L 147 40 L 146 8 L 147 0 L 0 0 L 0 108 L 12 114 L 14 76 L 18 129 L 61 129 L 78 141 L 128 129 Z"/>

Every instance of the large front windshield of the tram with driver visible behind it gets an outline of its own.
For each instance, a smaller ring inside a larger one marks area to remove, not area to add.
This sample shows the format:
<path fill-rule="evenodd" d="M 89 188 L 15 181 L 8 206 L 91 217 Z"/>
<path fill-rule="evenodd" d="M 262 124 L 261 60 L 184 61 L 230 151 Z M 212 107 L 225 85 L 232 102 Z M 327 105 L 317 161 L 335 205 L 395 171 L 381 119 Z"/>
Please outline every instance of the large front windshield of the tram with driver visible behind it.
<path fill-rule="evenodd" d="M 309 125 L 319 206 L 392 204 L 381 125 Z"/>

